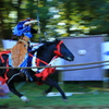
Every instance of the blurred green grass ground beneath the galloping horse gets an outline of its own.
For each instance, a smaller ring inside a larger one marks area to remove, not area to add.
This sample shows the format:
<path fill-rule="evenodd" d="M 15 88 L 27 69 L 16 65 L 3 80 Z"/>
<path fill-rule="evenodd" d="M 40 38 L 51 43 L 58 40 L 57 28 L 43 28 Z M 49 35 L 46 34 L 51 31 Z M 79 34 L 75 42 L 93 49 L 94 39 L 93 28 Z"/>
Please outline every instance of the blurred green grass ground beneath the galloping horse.
<path fill-rule="evenodd" d="M 31 99 L 31 102 L 25 104 L 13 94 L 9 94 L 10 98 L 0 99 L 0 106 L 5 109 L 109 109 L 109 93 L 102 92 L 101 83 L 70 83 L 66 82 L 64 90 L 66 92 L 84 92 L 85 94 L 74 94 L 68 97 L 68 102 L 63 102 L 61 97 L 46 97 L 41 92 L 48 86 L 38 86 L 36 83 L 26 83 L 19 90 Z M 97 90 L 97 92 L 95 92 Z M 52 92 L 57 92 L 53 89 Z M 94 93 L 95 92 L 95 93 Z M 0 109 L 3 109 L 0 108 Z"/>

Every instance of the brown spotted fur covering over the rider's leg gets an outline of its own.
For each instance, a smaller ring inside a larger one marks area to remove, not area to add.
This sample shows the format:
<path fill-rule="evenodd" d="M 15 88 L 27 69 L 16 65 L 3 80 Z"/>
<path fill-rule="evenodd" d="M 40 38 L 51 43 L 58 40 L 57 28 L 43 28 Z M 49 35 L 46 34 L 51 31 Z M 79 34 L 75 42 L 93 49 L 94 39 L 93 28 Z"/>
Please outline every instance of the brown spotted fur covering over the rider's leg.
<path fill-rule="evenodd" d="M 26 36 L 22 36 L 16 45 L 11 49 L 12 65 L 19 66 L 25 59 L 28 48 L 28 40 Z"/>

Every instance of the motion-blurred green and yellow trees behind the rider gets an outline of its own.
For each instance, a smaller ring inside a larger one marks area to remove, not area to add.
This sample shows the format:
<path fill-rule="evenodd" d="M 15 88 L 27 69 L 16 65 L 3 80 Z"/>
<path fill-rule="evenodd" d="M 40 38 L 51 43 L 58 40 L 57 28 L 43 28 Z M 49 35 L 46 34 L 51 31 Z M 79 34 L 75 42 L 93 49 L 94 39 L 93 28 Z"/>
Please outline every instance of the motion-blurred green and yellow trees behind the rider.
<path fill-rule="evenodd" d="M 11 38 L 19 21 L 38 15 L 41 34 L 32 40 L 44 33 L 46 37 L 109 34 L 108 0 L 0 0 L 0 5 L 2 38 Z"/>

